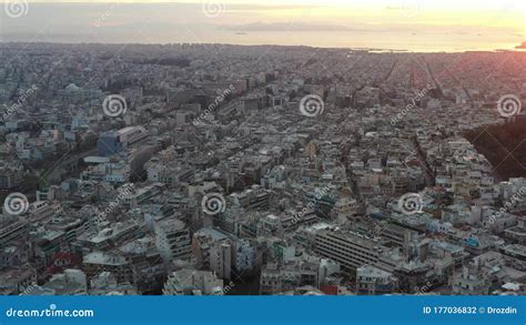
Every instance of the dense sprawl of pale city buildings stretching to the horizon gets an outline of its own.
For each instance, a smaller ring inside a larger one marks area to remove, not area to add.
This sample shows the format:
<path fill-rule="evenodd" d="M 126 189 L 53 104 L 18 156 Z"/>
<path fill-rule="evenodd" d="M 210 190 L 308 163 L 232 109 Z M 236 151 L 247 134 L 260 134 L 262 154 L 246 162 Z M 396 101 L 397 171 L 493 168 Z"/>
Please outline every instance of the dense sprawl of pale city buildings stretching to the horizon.
<path fill-rule="evenodd" d="M 2 295 L 526 293 L 525 52 L 0 53 Z"/>

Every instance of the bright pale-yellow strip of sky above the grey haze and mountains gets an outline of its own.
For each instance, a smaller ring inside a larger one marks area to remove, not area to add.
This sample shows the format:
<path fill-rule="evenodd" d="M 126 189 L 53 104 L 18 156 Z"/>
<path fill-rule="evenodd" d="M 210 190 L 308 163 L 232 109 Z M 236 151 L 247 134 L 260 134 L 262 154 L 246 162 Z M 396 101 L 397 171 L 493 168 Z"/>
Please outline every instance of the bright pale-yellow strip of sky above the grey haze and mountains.
<path fill-rule="evenodd" d="M 17 0 L 11 0 L 17 1 Z M 18 0 L 23 1 L 23 0 Z M 353 21 L 371 24 L 402 22 L 438 26 L 479 26 L 510 28 L 524 31 L 526 1 L 524 0 L 210 0 L 210 1 L 53 1 L 29 0 L 29 3 L 100 2 L 100 3 L 219 3 L 229 16 L 243 13 L 243 20 L 283 21 L 307 16 L 316 23 Z M 221 19 L 219 19 L 221 20 Z"/>

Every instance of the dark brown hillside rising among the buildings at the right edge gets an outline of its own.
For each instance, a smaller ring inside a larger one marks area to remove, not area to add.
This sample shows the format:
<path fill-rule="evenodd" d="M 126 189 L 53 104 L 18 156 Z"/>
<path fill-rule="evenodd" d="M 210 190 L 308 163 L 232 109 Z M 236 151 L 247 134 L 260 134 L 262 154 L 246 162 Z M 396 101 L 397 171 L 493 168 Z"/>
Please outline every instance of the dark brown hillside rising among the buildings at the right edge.
<path fill-rule="evenodd" d="M 526 120 L 478 128 L 464 134 L 503 180 L 526 177 Z"/>

